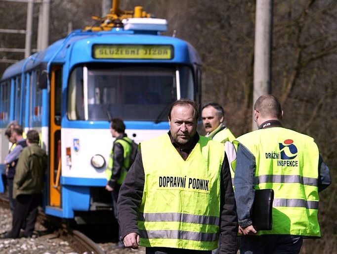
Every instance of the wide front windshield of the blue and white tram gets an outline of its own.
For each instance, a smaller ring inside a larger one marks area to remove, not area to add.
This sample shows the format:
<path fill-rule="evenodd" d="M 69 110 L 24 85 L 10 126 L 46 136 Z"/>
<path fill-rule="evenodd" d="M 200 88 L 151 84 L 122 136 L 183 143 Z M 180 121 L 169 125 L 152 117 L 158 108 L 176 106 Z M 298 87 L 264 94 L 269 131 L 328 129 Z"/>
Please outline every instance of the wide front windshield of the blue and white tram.
<path fill-rule="evenodd" d="M 194 100 L 193 74 L 187 66 L 81 66 L 69 79 L 67 115 L 70 120 L 167 121 L 177 93 Z"/>

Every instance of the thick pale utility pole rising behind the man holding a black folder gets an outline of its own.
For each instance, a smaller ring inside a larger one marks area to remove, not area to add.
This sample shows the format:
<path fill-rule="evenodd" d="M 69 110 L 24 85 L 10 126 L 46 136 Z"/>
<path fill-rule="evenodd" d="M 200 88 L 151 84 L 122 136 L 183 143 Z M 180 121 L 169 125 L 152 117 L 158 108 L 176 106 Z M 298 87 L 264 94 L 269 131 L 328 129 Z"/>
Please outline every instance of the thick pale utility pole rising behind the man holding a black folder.
<path fill-rule="evenodd" d="M 256 0 L 253 107 L 258 97 L 271 92 L 272 15 L 273 0 Z"/>

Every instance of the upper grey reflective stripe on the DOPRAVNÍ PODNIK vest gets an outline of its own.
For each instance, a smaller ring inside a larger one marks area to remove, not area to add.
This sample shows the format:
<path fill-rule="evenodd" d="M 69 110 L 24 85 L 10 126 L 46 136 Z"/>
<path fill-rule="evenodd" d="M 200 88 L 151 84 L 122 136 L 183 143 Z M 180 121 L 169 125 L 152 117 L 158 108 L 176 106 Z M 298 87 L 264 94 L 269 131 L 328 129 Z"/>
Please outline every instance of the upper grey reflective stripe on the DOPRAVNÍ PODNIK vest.
<path fill-rule="evenodd" d="M 219 217 L 194 215 L 187 213 L 165 212 L 165 213 L 139 213 L 140 221 L 178 221 L 204 225 L 219 225 Z"/>

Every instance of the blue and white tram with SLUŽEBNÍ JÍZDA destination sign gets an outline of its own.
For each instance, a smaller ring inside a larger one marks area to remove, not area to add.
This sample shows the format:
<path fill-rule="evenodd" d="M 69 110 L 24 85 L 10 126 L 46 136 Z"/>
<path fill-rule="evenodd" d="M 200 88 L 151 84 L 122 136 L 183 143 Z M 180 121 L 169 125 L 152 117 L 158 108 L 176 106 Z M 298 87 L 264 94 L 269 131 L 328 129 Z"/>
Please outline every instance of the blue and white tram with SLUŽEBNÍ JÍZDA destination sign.
<path fill-rule="evenodd" d="M 169 130 L 171 102 L 200 103 L 201 61 L 193 47 L 161 36 L 166 22 L 160 19 L 129 18 L 123 24 L 74 31 L 11 65 L 1 78 L 1 167 L 9 121 L 41 133 L 49 156 L 46 214 L 74 218 L 109 206 L 109 117 L 124 119 L 127 135 L 141 142 Z"/>

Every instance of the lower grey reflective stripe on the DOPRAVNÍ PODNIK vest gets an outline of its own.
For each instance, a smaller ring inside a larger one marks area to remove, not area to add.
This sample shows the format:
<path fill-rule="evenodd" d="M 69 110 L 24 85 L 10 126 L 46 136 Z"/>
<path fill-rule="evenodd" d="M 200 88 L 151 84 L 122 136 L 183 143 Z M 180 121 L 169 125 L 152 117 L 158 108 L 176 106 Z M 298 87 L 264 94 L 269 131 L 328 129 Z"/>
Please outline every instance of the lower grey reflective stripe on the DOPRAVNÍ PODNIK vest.
<path fill-rule="evenodd" d="M 141 238 L 146 239 L 183 239 L 191 241 L 213 242 L 219 233 L 201 233 L 181 230 L 139 230 Z"/>

